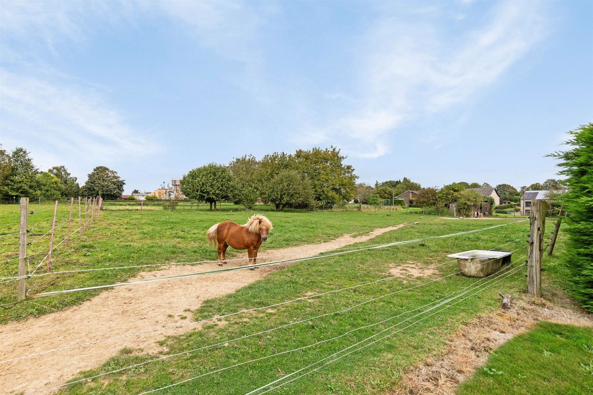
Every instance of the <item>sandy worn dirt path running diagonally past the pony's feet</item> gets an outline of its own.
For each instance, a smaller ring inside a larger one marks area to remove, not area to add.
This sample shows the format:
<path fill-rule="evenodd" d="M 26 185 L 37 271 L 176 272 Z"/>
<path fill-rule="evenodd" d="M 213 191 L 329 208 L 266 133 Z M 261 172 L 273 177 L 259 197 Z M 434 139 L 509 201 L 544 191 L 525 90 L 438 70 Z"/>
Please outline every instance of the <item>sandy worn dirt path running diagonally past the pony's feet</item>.
<path fill-rule="evenodd" d="M 359 237 L 344 235 L 326 243 L 267 251 L 262 255 L 291 254 L 286 259 L 316 255 L 352 243 L 365 242 L 404 225 L 375 229 L 369 235 Z M 238 258 L 243 256 L 240 255 Z M 258 261 L 269 262 L 278 259 L 283 257 L 258 258 Z M 245 264 L 243 261 L 231 261 L 225 267 L 239 266 L 238 262 Z M 181 320 L 180 316 L 191 319 L 192 313 L 187 309 L 195 310 L 207 299 L 232 293 L 270 272 L 287 266 L 289 264 L 263 266 L 254 271 L 222 272 L 113 288 L 71 309 L 30 319 L 27 322 L 12 322 L 0 326 L 0 361 L 127 333 L 186 324 L 189 322 Z M 141 273 L 130 281 L 217 268 L 216 263 L 171 266 L 161 271 Z M 170 314 L 173 314 L 173 317 Z M 158 330 L 0 364 L 0 393 L 28 393 L 65 383 L 79 371 L 97 367 L 124 347 L 142 348 L 147 352 L 161 351 L 163 348 L 156 341 L 165 335 L 187 332 L 196 327 L 198 326 L 190 324 L 175 329 Z"/>

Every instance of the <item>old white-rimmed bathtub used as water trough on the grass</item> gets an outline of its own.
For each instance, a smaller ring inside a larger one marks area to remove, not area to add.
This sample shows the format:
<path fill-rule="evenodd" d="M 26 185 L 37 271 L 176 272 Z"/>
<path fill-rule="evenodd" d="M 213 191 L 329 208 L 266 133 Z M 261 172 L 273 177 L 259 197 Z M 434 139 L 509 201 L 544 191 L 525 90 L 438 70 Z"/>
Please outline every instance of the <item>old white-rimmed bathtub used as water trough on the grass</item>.
<path fill-rule="evenodd" d="M 447 255 L 457 258 L 461 274 L 468 277 L 486 277 L 500 269 L 502 264 L 511 262 L 510 251 L 470 250 Z"/>

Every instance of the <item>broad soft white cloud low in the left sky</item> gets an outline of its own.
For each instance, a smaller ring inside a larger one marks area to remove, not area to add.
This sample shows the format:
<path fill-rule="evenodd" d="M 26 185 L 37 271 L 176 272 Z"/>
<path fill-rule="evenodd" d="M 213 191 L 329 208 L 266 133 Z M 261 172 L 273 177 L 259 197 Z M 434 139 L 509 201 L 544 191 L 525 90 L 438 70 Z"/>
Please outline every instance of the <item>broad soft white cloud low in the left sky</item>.
<path fill-rule="evenodd" d="M 114 160 L 155 151 L 97 92 L 0 70 L 3 133 L 21 133 L 64 156 Z"/>

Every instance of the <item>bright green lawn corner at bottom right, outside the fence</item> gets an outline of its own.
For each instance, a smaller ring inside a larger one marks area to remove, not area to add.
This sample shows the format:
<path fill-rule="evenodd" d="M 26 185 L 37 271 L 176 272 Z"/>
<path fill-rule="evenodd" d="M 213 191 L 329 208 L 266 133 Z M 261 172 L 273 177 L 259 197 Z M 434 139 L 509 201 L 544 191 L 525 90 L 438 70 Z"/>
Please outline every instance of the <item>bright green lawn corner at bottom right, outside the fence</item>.
<path fill-rule="evenodd" d="M 540 322 L 493 352 L 457 394 L 591 394 L 592 362 L 591 327 Z"/>

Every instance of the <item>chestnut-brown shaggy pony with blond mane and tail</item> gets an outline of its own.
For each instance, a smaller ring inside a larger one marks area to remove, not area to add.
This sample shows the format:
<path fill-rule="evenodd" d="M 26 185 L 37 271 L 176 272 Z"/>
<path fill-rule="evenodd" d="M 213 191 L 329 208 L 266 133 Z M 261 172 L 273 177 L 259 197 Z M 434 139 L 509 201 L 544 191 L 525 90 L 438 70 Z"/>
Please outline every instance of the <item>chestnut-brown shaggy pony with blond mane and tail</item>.
<path fill-rule="evenodd" d="M 267 234 L 272 230 L 272 227 L 272 222 L 265 216 L 254 214 L 244 225 L 233 221 L 224 221 L 213 225 L 206 232 L 206 237 L 210 245 L 218 245 L 218 266 L 227 263 L 225 262 L 225 253 L 228 246 L 237 250 L 247 249 L 249 264 L 255 264 L 257 250 L 262 242 L 267 240 Z"/>

